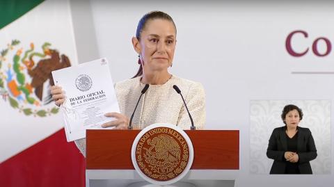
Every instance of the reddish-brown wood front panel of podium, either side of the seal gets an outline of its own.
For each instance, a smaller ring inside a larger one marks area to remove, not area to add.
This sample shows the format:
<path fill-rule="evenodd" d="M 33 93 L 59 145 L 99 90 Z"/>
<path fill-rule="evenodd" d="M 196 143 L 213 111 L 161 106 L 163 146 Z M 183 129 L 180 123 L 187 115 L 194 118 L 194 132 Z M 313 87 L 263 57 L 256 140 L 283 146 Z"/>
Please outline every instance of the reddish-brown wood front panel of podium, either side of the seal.
<path fill-rule="evenodd" d="M 192 170 L 239 170 L 239 131 L 185 131 L 193 143 Z M 134 170 L 131 148 L 139 130 L 88 130 L 89 170 Z"/>

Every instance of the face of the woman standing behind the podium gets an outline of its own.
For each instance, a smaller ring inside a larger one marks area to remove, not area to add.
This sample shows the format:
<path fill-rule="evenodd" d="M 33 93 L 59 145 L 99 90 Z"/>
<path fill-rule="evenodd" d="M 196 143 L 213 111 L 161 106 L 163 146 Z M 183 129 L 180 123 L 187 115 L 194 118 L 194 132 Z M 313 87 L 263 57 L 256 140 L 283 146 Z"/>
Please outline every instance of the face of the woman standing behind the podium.
<path fill-rule="evenodd" d="M 151 19 L 145 24 L 139 41 L 143 72 L 167 70 L 173 62 L 176 31 L 166 19 Z"/>

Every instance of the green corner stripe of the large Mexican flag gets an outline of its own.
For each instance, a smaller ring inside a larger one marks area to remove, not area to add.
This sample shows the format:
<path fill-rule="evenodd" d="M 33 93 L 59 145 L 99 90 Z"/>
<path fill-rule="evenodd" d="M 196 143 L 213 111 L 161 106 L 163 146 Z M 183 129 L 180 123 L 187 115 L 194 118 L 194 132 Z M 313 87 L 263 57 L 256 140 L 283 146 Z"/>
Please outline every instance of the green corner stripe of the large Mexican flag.
<path fill-rule="evenodd" d="M 0 29 L 14 22 L 44 0 L 0 0 Z"/>

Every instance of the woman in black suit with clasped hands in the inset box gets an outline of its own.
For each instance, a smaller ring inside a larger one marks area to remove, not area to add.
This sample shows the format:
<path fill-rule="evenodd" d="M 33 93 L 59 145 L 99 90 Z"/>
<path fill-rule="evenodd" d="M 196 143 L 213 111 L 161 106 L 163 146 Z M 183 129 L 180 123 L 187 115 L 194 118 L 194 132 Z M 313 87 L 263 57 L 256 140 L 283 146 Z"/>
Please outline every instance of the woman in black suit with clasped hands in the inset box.
<path fill-rule="evenodd" d="M 289 104 L 283 108 L 284 127 L 273 129 L 267 149 L 273 159 L 270 174 L 312 174 L 310 161 L 317 157 L 310 129 L 299 127 L 303 112 Z"/>

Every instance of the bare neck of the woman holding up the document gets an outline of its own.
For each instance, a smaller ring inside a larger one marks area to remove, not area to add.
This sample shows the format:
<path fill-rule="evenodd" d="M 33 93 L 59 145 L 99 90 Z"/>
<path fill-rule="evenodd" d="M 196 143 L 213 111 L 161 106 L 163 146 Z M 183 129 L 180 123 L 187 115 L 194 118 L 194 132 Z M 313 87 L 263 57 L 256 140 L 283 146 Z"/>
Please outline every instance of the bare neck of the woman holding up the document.
<path fill-rule="evenodd" d="M 141 79 L 141 83 L 143 84 L 151 84 L 151 85 L 161 85 L 166 83 L 172 77 L 168 72 L 155 72 L 152 74 L 148 74 L 143 72 L 143 78 Z"/>

